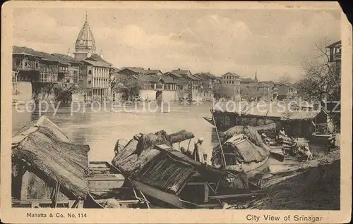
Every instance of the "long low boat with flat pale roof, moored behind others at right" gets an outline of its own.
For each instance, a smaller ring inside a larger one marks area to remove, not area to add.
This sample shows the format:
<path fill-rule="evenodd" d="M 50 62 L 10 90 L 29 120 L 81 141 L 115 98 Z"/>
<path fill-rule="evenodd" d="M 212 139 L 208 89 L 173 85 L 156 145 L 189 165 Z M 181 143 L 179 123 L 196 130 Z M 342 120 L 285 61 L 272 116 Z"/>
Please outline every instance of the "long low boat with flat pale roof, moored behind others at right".
<path fill-rule="evenodd" d="M 205 117 L 220 132 L 234 126 L 250 125 L 253 127 L 275 123 L 276 131 L 285 128 L 288 136 L 308 137 L 314 132 L 313 121 L 325 120 L 327 113 L 318 108 L 298 108 L 297 104 L 286 102 L 253 102 L 247 104 L 227 104 L 220 102 L 210 109 L 211 118 Z"/>

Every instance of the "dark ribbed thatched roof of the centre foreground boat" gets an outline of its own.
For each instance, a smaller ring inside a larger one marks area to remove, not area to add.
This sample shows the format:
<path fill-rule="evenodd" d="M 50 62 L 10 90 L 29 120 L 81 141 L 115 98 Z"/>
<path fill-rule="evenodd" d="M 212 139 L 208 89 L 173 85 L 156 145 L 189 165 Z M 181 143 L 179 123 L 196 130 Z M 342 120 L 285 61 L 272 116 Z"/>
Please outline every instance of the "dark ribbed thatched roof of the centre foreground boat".
<path fill-rule="evenodd" d="M 112 163 L 128 178 L 164 192 L 178 192 L 196 171 L 205 180 L 219 180 L 226 175 L 222 170 L 204 166 L 171 146 L 169 135 L 163 130 L 136 135 Z"/>

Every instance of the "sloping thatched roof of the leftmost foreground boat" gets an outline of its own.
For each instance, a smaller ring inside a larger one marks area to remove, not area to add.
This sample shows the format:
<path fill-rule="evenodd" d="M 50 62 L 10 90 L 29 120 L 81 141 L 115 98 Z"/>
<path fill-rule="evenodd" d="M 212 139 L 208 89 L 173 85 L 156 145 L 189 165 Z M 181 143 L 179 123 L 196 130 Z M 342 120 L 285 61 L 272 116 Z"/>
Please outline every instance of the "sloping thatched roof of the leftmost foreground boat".
<path fill-rule="evenodd" d="M 38 177 L 59 182 L 73 197 L 88 194 L 88 151 L 90 147 L 72 144 L 47 117 L 25 125 L 12 139 L 13 161 L 28 166 Z"/>

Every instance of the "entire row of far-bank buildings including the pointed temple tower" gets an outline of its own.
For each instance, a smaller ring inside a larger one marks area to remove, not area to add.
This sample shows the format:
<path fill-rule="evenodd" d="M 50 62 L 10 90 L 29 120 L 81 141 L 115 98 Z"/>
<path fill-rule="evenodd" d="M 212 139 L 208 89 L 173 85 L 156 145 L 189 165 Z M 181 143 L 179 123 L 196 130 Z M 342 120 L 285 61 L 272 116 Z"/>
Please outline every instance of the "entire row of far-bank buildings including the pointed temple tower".
<path fill-rule="evenodd" d="M 332 53 L 336 54 L 337 50 L 332 49 Z M 192 74 L 190 70 L 179 68 L 167 73 L 140 67 L 114 68 L 112 63 L 103 59 L 102 51 L 96 54 L 95 39 L 87 15 L 78 33 L 73 54 L 70 50 L 67 54 L 49 54 L 26 46 L 13 46 L 14 95 L 32 94 L 30 84 L 33 82 L 66 86 L 80 82 L 83 83 L 84 91 L 76 94 L 74 100 L 114 100 L 119 99 L 121 93 L 116 91 L 117 88 L 111 89 L 111 85 L 124 86 L 124 83 L 114 82 L 121 80 L 121 77 L 133 78 L 142 83 L 140 99 L 146 101 L 177 101 L 186 98 L 212 100 L 217 85 L 222 85 L 225 95 L 234 100 L 241 100 L 242 88 L 248 89 L 256 99 L 282 100 L 297 97 L 297 89 L 292 84 L 258 81 L 256 72 L 251 79 L 232 72 L 217 76 L 211 73 Z M 32 96 L 22 96 L 22 99 L 26 98 L 31 99 Z"/>

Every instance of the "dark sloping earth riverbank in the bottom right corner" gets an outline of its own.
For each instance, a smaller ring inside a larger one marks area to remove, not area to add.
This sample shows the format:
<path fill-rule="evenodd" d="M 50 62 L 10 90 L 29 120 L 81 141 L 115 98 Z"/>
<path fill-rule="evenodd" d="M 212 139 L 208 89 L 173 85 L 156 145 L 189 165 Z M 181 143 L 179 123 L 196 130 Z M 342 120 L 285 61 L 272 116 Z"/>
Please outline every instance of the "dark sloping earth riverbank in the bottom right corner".
<path fill-rule="evenodd" d="M 264 179 L 263 187 L 268 196 L 236 209 L 340 210 L 340 151 Z"/>

